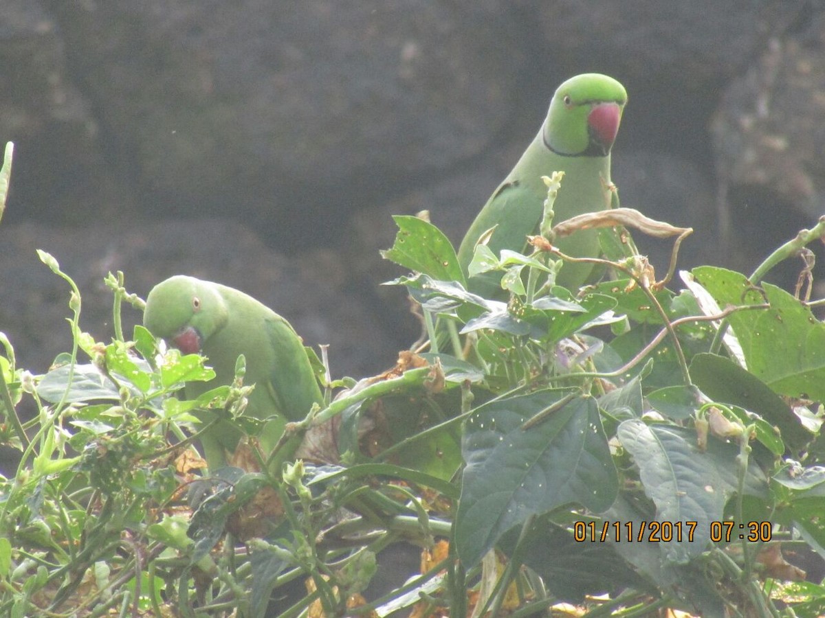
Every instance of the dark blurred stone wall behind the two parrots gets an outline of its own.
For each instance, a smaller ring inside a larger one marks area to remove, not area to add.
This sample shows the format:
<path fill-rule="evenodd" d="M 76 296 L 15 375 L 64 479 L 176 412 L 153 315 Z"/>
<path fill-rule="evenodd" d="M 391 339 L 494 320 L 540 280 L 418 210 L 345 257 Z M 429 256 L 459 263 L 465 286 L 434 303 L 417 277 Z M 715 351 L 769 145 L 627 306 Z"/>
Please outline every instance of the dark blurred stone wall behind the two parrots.
<path fill-rule="evenodd" d="M 35 248 L 104 341 L 107 271 L 141 296 L 186 273 L 332 344 L 335 376 L 385 368 L 417 336 L 380 287 L 402 274 L 378 254 L 390 215 L 427 208 L 459 241 L 576 73 L 625 84 L 613 180 L 623 205 L 695 228 L 681 267 L 749 273 L 825 211 L 822 2 L 0 5 L 0 330 L 35 373 L 70 343 L 68 287 Z"/>

